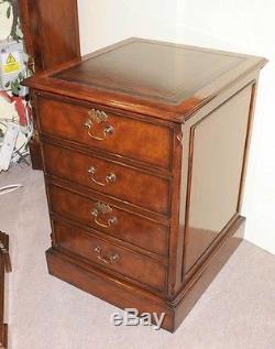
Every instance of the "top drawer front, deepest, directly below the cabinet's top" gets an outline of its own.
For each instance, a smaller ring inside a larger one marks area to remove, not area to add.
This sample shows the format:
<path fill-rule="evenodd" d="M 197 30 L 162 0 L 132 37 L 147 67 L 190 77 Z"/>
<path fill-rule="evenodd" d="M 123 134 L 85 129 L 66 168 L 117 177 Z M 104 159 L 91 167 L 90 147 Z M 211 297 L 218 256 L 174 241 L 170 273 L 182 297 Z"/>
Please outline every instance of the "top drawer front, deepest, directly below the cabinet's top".
<path fill-rule="evenodd" d="M 42 97 L 38 116 L 41 132 L 45 134 L 170 167 L 173 132 L 167 127 L 110 112 L 96 113 L 86 107 Z"/>

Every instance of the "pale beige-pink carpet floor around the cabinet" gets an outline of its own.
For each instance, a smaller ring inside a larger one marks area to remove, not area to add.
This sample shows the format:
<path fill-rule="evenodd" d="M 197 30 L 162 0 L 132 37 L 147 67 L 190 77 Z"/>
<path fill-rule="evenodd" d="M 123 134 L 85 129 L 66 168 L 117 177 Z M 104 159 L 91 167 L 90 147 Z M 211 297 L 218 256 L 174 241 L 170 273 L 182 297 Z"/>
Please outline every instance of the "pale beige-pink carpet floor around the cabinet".
<path fill-rule="evenodd" d="M 13 167 L 0 187 L 0 229 L 11 237 L 11 349 L 274 349 L 275 257 L 243 242 L 176 334 L 114 327 L 118 309 L 47 274 L 50 222 L 41 172 Z M 258 231 L 261 233 L 261 231 Z"/>

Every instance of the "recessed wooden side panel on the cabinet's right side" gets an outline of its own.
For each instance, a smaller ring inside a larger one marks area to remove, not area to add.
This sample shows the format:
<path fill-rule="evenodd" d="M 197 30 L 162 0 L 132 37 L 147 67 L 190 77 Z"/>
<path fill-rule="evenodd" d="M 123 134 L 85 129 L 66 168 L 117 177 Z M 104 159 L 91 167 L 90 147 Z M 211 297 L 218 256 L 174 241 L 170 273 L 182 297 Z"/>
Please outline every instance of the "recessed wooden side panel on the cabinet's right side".
<path fill-rule="evenodd" d="M 184 274 L 238 215 L 252 91 L 249 85 L 190 128 Z"/>

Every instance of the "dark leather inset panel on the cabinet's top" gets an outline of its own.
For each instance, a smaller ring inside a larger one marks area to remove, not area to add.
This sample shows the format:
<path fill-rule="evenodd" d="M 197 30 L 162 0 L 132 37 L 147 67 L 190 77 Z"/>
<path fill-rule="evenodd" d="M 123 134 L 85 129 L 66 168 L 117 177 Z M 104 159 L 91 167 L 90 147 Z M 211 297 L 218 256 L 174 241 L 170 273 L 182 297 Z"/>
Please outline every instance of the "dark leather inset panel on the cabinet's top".
<path fill-rule="evenodd" d="M 157 57 L 157 59 L 156 59 Z M 130 41 L 53 75 L 54 78 L 179 103 L 244 57 L 146 41 Z M 123 64 L 120 64 L 123 62 Z M 141 65 L 141 62 L 145 64 Z M 196 66 L 196 75 L 190 66 Z M 148 79 L 150 76 L 150 79 Z M 184 81 L 183 81 L 184 76 Z"/>

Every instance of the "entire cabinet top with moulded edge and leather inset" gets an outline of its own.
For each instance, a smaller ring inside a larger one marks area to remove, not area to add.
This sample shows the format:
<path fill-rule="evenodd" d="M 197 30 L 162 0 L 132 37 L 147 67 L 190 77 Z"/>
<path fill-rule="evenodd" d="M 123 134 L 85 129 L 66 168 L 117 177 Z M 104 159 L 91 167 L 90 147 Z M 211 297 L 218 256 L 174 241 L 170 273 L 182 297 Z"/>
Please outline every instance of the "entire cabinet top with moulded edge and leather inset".
<path fill-rule="evenodd" d="M 35 74 L 25 85 L 180 123 L 266 62 L 131 37 Z"/>

